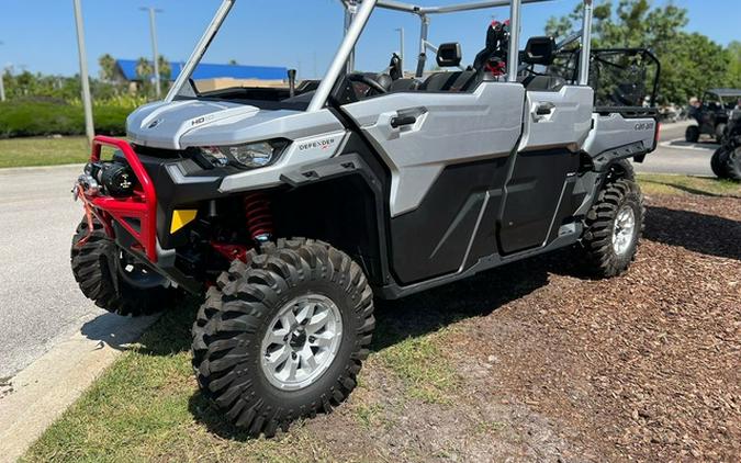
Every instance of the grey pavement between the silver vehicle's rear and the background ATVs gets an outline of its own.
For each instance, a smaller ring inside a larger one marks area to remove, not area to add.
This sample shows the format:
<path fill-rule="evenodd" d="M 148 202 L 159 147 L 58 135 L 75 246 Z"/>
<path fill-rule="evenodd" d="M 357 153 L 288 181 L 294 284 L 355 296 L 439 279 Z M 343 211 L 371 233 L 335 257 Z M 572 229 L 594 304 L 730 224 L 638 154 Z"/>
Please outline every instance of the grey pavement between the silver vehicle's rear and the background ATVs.
<path fill-rule="evenodd" d="M 666 124 L 662 127 L 658 149 L 636 163 L 638 172 L 682 173 L 686 176 L 715 177 L 710 169 L 710 157 L 718 145 L 712 143 L 688 144 L 684 131 L 689 123 Z"/>

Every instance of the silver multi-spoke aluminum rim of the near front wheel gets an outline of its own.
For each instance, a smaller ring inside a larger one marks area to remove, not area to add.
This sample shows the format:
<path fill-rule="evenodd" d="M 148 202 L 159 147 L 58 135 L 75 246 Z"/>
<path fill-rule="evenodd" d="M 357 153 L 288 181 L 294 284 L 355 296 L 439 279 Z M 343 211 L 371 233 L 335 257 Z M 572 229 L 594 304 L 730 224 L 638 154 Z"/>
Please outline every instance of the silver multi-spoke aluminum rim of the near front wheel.
<path fill-rule="evenodd" d="M 262 338 L 262 372 L 276 387 L 302 389 L 332 365 L 341 339 L 343 318 L 329 297 L 296 297 L 278 310 Z"/>

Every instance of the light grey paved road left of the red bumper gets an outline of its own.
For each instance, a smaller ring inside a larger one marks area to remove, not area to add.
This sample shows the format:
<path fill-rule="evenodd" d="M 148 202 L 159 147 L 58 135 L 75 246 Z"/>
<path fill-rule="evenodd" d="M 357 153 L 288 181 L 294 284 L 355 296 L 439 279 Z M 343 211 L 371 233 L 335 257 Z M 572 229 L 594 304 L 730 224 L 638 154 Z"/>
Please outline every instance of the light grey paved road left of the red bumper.
<path fill-rule="evenodd" d="M 69 270 L 81 218 L 69 191 L 80 170 L 0 169 L 0 379 L 104 313 L 82 296 Z"/>

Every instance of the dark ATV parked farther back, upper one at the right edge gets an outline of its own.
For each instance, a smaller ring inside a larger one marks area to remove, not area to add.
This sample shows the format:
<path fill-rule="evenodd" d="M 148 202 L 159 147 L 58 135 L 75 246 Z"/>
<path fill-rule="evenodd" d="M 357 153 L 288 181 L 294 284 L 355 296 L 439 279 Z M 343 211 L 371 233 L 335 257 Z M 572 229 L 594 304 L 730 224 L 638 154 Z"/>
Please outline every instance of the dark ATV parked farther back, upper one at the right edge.
<path fill-rule="evenodd" d="M 706 91 L 700 105 L 689 112 L 689 117 L 697 121 L 697 125 L 687 127 L 685 139 L 689 143 L 697 143 L 700 135 L 709 135 L 722 144 L 729 115 L 740 99 L 741 90 L 739 89 Z"/>

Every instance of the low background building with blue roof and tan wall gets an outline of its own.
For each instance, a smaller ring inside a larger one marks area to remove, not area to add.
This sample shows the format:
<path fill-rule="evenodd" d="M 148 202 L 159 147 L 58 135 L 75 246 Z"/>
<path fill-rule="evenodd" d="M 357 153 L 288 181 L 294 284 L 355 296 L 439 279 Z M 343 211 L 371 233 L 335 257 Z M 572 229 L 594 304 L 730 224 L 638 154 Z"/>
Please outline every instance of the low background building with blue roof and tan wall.
<path fill-rule="evenodd" d="M 138 61 L 135 59 L 117 59 L 116 75 L 121 82 L 128 82 L 130 89 L 136 91 L 144 80 L 136 72 Z M 175 81 L 184 63 L 170 63 L 170 81 Z M 288 69 L 270 66 L 212 65 L 200 64 L 193 72 L 200 91 L 212 91 L 233 87 L 282 87 L 288 79 Z"/>

